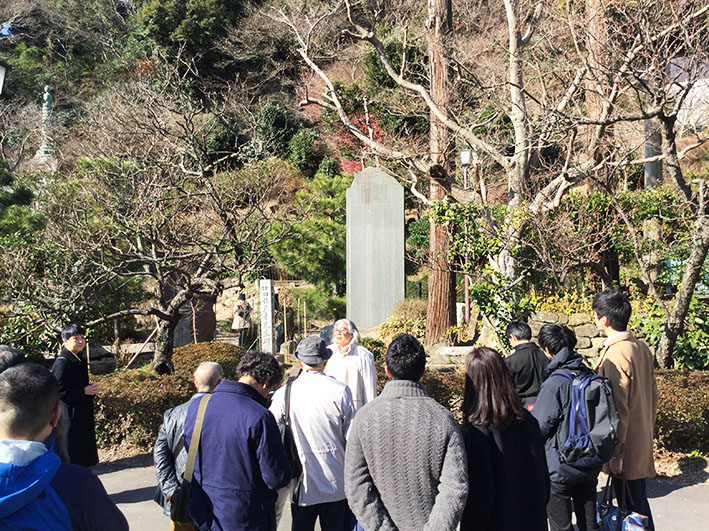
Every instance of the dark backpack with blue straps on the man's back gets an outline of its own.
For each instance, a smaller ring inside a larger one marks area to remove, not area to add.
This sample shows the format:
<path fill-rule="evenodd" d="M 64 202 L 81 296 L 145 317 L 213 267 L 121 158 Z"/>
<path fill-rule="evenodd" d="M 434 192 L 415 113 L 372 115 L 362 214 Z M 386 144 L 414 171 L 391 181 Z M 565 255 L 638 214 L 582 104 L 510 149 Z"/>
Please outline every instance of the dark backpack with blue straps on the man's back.
<path fill-rule="evenodd" d="M 559 461 L 579 469 L 598 468 L 613 457 L 618 444 L 613 385 L 592 372 L 576 375 L 557 370 L 554 374 L 571 380 L 566 429 L 557 432 Z"/>

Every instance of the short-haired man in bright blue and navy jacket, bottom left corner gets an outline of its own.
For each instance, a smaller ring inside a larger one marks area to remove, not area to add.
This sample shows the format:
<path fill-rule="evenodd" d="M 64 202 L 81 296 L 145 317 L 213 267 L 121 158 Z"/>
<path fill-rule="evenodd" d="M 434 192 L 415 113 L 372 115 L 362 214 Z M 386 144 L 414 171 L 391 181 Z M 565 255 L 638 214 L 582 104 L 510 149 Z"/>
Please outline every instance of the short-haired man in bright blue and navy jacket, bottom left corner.
<path fill-rule="evenodd" d="M 57 381 L 44 367 L 23 363 L 0 374 L 0 529 L 127 530 L 99 479 L 42 442 L 59 421 L 58 404 Z"/>

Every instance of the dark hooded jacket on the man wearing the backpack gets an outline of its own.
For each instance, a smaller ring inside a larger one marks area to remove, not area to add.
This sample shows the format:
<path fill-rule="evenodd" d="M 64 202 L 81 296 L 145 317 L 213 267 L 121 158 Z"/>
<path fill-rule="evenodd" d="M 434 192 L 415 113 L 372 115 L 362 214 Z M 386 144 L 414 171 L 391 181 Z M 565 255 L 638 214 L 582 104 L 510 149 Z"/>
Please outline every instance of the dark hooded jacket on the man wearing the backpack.
<path fill-rule="evenodd" d="M 576 352 L 564 347 L 549 362 L 547 378 L 539 391 L 532 415 L 539 422 L 539 428 L 544 437 L 544 447 L 547 453 L 547 466 L 551 480 L 555 483 L 578 485 L 598 477 L 601 468 L 581 470 L 559 462 L 559 444 L 564 441 L 557 439 L 557 431 L 568 433 L 569 409 L 571 408 L 571 380 L 565 376 L 555 375 L 559 369 L 570 371 L 575 375 L 592 373 Z"/>

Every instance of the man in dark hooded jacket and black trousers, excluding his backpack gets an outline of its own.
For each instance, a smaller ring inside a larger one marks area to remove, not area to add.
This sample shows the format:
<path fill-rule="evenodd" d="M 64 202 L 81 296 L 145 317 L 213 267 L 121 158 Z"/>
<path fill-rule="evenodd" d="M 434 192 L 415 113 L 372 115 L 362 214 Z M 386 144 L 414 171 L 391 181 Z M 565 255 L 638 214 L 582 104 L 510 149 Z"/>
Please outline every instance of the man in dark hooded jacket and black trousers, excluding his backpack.
<path fill-rule="evenodd" d="M 551 491 L 547 516 L 551 531 L 572 531 L 571 502 L 579 531 L 597 531 L 596 483 L 602 460 L 570 463 L 563 454 L 570 431 L 574 384 L 594 375 L 576 352 L 576 336 L 566 327 L 549 323 L 539 331 L 539 346 L 551 357 L 532 415 L 545 439 Z M 593 453 L 593 450 L 590 450 Z M 587 456 L 588 457 L 588 456 Z"/>

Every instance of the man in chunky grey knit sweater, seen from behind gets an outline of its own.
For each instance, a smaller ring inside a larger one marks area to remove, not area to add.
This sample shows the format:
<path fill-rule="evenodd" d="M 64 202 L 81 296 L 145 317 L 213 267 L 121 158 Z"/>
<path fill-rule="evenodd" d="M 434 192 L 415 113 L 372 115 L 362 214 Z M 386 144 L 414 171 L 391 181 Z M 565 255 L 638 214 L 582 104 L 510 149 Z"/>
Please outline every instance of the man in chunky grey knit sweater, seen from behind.
<path fill-rule="evenodd" d="M 345 493 L 366 531 L 454 531 L 468 495 L 467 458 L 453 416 L 418 383 L 426 353 L 400 334 L 382 394 L 363 406 L 345 453 Z"/>

